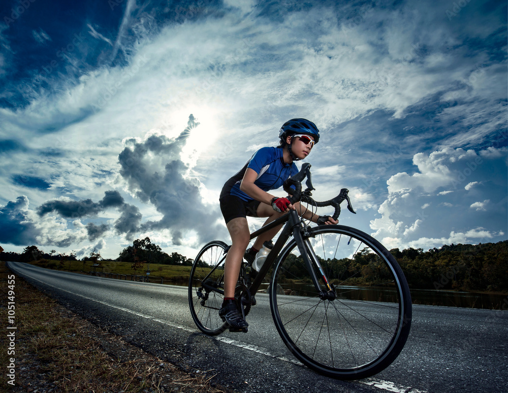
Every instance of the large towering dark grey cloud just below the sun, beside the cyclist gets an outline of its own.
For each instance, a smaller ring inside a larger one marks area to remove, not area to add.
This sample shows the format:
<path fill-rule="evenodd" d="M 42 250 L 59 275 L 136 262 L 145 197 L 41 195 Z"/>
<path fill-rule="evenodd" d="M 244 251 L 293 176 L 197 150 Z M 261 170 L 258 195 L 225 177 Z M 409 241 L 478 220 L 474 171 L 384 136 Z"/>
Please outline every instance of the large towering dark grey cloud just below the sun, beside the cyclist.
<path fill-rule="evenodd" d="M 185 139 L 199 123 L 189 116 L 187 127 L 178 137 L 152 135 L 138 143 L 129 140 L 118 156 L 120 174 L 142 201 L 152 203 L 163 218 L 141 225 L 142 230 L 171 229 L 173 243 L 181 244 L 186 230 L 196 230 L 200 241 L 213 236 L 213 223 L 220 217 L 201 200 L 200 182 L 186 175 L 188 166 L 180 159 Z M 151 154 L 149 154 L 151 153 Z M 151 155 L 164 158 L 166 164 L 154 168 Z M 196 225 L 199 223 L 199 225 Z"/>

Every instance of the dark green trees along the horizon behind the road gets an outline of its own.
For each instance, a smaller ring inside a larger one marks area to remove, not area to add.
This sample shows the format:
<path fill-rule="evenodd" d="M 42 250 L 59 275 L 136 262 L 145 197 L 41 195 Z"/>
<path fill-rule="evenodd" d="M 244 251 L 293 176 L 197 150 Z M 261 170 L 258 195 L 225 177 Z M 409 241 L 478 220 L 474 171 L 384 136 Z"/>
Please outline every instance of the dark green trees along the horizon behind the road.
<path fill-rule="evenodd" d="M 390 250 L 402 268 L 409 288 L 431 290 L 458 290 L 471 292 L 508 293 L 508 240 L 497 243 L 451 244 L 423 251 L 422 248 L 398 248 Z M 362 271 L 358 284 L 367 283 L 374 274 L 362 270 L 369 256 L 358 253 L 353 260 L 323 261 L 332 278 L 340 277 L 345 270 Z M 43 253 L 36 246 L 28 246 L 23 253 L 0 253 L 1 261 L 32 262 L 47 259 L 57 261 L 76 260 L 74 254 L 56 254 L 52 250 Z M 100 253 L 93 251 L 82 261 L 102 261 Z M 192 259 L 178 253 L 165 253 L 161 247 L 152 243 L 148 237 L 134 240 L 124 248 L 118 262 L 135 264 L 156 263 L 166 265 L 191 266 Z M 362 281 L 363 280 L 363 281 Z"/>

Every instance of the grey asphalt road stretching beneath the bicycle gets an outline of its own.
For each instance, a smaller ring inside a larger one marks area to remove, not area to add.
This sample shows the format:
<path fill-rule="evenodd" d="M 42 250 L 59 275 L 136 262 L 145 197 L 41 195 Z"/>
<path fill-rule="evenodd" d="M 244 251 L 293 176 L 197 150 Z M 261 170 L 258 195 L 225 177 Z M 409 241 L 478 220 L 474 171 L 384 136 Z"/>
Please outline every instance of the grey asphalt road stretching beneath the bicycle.
<path fill-rule="evenodd" d="M 100 327 L 173 364 L 217 374 L 217 383 L 236 391 L 507 391 L 508 311 L 414 305 L 397 360 L 374 377 L 345 382 L 297 364 L 275 330 L 265 294 L 256 296 L 248 333 L 209 337 L 190 317 L 186 287 L 8 266 Z"/>

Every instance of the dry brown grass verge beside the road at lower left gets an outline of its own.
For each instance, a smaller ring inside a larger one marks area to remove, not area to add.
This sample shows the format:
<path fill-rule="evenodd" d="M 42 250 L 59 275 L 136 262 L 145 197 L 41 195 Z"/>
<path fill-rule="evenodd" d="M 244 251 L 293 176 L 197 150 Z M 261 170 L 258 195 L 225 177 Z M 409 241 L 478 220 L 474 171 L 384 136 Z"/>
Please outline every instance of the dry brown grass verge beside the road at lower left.
<path fill-rule="evenodd" d="M 2 263 L 2 299 L 6 299 L 7 274 L 10 272 Z M 213 383 L 210 370 L 196 374 L 183 372 L 72 314 L 20 277 L 16 277 L 15 297 L 16 388 L 8 389 L 10 385 L 3 372 L 0 391 L 225 391 Z M 0 318 L 7 321 L 5 301 L 0 313 Z M 0 363 L 4 365 L 11 357 L 6 348 L 2 345 L 0 350 Z"/>

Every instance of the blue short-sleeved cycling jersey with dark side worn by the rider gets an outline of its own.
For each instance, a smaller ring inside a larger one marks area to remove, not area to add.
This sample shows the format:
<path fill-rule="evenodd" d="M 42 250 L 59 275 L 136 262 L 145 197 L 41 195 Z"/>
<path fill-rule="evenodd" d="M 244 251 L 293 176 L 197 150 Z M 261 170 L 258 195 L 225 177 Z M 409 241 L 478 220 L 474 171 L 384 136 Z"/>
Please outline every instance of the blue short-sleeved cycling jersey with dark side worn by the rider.
<path fill-rule="evenodd" d="M 244 201 L 253 199 L 240 191 L 240 184 L 247 168 L 251 168 L 258 173 L 254 184 L 263 191 L 275 190 L 281 187 L 288 177 L 298 173 L 295 163 L 287 164 L 284 162 L 281 148 L 262 148 L 247 161 L 237 174 L 226 182 L 220 192 L 220 197 L 235 195 Z"/>

